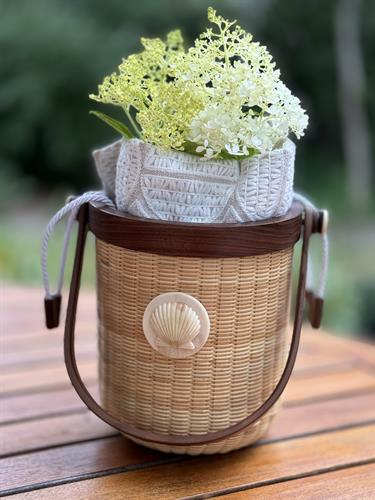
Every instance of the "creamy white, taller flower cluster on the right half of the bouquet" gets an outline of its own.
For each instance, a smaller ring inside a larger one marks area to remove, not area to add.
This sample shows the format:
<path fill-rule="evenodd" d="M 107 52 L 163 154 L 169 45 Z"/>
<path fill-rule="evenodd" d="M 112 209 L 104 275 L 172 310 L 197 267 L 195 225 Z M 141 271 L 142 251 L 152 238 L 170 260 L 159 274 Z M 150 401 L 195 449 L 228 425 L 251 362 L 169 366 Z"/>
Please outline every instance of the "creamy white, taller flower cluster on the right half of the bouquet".
<path fill-rule="evenodd" d="M 185 83 L 204 103 L 190 123 L 188 140 L 198 144 L 195 151 L 206 158 L 243 157 L 279 147 L 290 132 L 302 136 L 308 117 L 267 49 L 211 15 L 220 34 L 207 30 L 186 55 Z"/>

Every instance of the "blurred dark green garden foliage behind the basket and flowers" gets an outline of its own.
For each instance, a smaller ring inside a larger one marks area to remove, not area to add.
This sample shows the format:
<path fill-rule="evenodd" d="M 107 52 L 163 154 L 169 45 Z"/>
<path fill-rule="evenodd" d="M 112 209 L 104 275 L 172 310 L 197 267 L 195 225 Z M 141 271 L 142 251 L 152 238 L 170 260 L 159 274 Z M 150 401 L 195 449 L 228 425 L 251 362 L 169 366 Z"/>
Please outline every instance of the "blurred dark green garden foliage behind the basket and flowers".
<path fill-rule="evenodd" d="M 88 93 L 122 57 L 140 50 L 140 36 L 180 27 L 191 43 L 207 25 L 209 5 L 268 46 L 308 111 L 296 190 L 331 211 L 325 326 L 369 334 L 375 330 L 372 0 L 0 0 L 1 275 L 39 285 L 48 217 L 66 194 L 98 187 L 90 151 L 114 137 L 88 114 L 98 109 Z M 364 158 L 355 165 L 347 143 L 358 131 L 367 143 L 354 141 L 356 157 Z M 61 233 L 51 250 L 54 271 Z M 91 257 L 86 284 L 94 282 Z"/>

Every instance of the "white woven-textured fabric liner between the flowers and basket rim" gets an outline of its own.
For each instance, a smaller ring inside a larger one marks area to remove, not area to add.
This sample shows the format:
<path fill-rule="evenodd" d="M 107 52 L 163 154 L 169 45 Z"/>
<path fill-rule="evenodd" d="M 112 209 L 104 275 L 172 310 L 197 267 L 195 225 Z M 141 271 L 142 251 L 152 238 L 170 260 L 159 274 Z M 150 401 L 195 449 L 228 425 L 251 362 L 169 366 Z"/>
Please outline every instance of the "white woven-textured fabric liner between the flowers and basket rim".
<path fill-rule="evenodd" d="M 122 139 L 93 153 L 118 210 L 173 222 L 246 222 L 280 217 L 293 199 L 295 145 L 245 160 L 204 160 Z"/>

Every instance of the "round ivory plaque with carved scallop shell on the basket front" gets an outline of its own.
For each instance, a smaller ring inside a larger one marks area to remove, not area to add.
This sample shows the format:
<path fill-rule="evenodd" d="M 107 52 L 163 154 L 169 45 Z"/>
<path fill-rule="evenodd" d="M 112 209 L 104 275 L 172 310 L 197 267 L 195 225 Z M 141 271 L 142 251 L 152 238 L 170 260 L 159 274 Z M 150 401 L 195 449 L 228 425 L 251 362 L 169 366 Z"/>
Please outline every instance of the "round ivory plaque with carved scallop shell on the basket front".
<path fill-rule="evenodd" d="M 163 293 L 146 307 L 143 331 L 149 344 L 169 358 L 186 358 L 198 352 L 210 333 L 205 307 L 181 292 Z"/>

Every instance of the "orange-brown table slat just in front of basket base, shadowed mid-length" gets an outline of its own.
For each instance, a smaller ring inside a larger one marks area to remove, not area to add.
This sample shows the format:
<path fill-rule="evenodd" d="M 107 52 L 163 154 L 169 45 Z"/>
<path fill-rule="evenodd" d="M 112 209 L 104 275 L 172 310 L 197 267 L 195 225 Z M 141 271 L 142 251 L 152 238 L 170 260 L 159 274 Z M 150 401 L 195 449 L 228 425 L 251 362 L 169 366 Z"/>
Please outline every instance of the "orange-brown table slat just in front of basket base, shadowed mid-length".
<path fill-rule="evenodd" d="M 147 469 L 71 482 L 23 493 L 25 499 L 162 498 L 249 488 L 265 481 L 311 475 L 372 460 L 374 426 L 250 447 L 207 460 L 200 457 Z M 15 495 L 14 498 L 17 498 Z"/>

